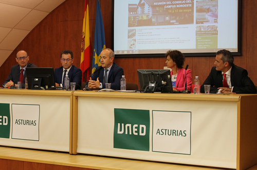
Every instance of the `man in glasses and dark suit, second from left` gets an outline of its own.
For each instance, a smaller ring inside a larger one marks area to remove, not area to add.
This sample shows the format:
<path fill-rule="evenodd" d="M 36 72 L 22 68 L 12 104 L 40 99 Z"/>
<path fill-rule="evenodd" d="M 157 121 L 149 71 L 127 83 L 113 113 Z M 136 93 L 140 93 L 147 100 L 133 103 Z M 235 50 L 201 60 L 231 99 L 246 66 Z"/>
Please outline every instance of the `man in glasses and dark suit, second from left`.
<path fill-rule="evenodd" d="M 79 68 L 72 66 L 74 61 L 72 51 L 63 50 L 60 61 L 62 63 L 62 67 L 54 70 L 56 87 L 59 87 L 60 84 L 63 84 L 64 87 L 64 78 L 66 75 L 69 77 L 69 82 L 76 82 L 76 84 L 81 86 L 82 71 Z M 76 85 L 76 89 L 79 89 L 78 85 Z"/>

